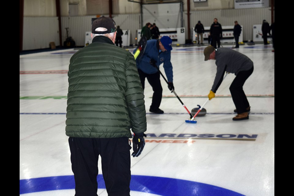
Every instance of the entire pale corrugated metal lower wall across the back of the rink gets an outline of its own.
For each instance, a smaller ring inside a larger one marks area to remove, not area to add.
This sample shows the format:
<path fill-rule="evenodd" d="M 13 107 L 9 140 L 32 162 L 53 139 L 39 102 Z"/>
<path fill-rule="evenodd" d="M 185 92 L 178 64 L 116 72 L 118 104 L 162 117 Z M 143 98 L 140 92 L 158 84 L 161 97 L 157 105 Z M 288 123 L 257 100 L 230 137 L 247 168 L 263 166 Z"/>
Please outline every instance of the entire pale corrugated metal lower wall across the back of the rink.
<path fill-rule="evenodd" d="M 200 20 L 204 26 L 210 26 L 213 18 L 217 18 L 223 26 L 234 25 L 237 20 L 243 25 L 243 40 L 252 40 L 252 26 L 262 24 L 265 19 L 270 23 L 270 8 L 255 9 L 224 9 L 194 11 L 190 14 L 191 28 Z M 66 27 L 77 46 L 85 44 L 85 32 L 91 31 L 91 19 L 96 16 L 62 17 L 62 43 L 66 39 Z M 121 29 L 130 29 L 130 44 L 135 44 L 137 29 L 141 29 L 140 14 L 117 14 L 113 15 L 116 25 Z M 187 13 L 184 14 L 184 27 L 187 29 Z M 186 30 L 186 39 L 188 38 Z M 24 41 L 23 50 L 48 48 L 49 43 L 54 41 L 59 45 L 58 18 L 57 17 L 24 17 Z"/>

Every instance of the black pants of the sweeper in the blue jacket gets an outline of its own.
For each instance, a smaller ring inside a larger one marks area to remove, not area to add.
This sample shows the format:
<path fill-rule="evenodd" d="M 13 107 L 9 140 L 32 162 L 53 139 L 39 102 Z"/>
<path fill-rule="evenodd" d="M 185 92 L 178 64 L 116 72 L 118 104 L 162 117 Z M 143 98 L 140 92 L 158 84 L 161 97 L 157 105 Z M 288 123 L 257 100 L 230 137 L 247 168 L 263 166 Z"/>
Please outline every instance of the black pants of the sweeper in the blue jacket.
<path fill-rule="evenodd" d="M 153 96 L 152 96 L 152 104 L 150 108 L 156 110 L 159 108 L 162 98 L 162 87 L 160 83 L 160 74 L 159 72 L 155 74 L 145 74 L 142 70 L 138 69 L 138 73 L 140 76 L 141 84 L 143 89 L 145 88 L 145 78 L 147 77 L 147 81 L 152 86 Z"/>

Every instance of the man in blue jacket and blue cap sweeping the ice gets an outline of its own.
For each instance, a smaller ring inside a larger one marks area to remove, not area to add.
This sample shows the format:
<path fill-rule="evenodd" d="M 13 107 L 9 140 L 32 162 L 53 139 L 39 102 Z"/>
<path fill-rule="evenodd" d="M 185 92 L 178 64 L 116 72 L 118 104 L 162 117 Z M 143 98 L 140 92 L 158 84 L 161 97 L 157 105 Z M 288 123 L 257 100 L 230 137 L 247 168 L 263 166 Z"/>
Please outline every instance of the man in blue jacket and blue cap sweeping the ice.
<path fill-rule="evenodd" d="M 152 86 L 153 96 L 149 111 L 156 114 L 164 113 L 164 111 L 159 109 L 162 87 L 158 69 L 161 63 L 163 63 L 164 72 L 168 79 L 168 89 L 174 89 L 172 83 L 171 43 L 172 40 L 168 36 L 163 36 L 160 40 L 148 40 L 143 56 L 136 60 L 143 89 L 145 87 L 145 78 Z"/>

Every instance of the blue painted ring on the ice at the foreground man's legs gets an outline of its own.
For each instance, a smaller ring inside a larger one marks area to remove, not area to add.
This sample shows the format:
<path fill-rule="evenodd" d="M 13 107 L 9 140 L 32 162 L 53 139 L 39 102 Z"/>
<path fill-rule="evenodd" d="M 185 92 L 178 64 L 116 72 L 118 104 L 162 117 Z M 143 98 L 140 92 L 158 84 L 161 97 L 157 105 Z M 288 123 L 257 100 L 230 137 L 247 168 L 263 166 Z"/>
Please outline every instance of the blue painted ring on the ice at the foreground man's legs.
<path fill-rule="evenodd" d="M 97 177 L 98 189 L 105 189 L 103 176 L 100 174 Z M 64 190 L 74 189 L 74 176 L 52 176 L 43 178 L 32 178 L 19 180 L 19 194 L 34 193 L 49 190 Z M 157 195 L 226 195 L 226 196 L 241 196 L 232 190 L 221 187 L 216 187 L 210 184 L 198 183 L 189 180 L 132 175 L 130 190 L 140 191 Z"/>

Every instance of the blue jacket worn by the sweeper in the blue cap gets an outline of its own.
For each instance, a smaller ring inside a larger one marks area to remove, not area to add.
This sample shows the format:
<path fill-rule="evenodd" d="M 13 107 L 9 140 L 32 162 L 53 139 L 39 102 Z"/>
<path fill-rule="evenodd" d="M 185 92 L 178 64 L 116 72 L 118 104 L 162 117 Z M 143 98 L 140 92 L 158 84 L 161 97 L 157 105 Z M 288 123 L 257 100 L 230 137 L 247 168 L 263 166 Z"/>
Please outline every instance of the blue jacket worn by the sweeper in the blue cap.
<path fill-rule="evenodd" d="M 134 50 L 133 53 L 135 53 L 136 50 Z M 168 78 L 168 82 L 172 82 L 171 51 L 159 51 L 159 40 L 147 41 L 144 55 L 140 59 L 136 59 L 137 68 L 142 70 L 145 74 L 157 73 L 158 70 L 149 63 L 152 58 L 156 61 L 158 69 L 160 64 L 163 63 L 164 72 Z"/>

